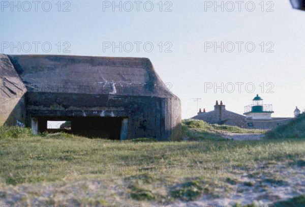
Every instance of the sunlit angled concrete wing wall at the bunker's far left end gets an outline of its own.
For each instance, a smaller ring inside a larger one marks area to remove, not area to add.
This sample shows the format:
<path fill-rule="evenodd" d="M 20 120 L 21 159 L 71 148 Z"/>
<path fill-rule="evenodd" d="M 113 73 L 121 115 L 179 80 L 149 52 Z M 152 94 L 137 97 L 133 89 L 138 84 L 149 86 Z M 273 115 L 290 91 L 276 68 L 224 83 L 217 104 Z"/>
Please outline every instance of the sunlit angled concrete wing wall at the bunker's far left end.
<path fill-rule="evenodd" d="M 0 54 L 0 126 L 24 126 L 26 88 L 10 59 Z"/>

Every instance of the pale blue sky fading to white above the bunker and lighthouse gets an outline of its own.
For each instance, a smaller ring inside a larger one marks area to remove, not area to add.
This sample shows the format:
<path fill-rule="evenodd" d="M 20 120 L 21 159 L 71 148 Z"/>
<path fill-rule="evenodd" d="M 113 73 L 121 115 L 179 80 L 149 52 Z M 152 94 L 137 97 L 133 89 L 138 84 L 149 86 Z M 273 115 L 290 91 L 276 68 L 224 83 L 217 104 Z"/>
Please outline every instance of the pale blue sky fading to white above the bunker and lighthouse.
<path fill-rule="evenodd" d="M 242 114 L 305 110 L 305 12 L 283 1 L 1 1 L 1 53 L 147 57 L 182 119 L 216 100 Z"/>

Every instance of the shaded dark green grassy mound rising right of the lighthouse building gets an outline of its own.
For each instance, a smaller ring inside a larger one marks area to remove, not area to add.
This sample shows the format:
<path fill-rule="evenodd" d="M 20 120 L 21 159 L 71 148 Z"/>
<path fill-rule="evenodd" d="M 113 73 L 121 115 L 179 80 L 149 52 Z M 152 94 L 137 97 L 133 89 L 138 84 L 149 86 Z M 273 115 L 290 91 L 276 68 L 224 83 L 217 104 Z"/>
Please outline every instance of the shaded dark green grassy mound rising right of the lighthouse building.
<path fill-rule="evenodd" d="M 305 113 L 301 113 L 288 124 L 266 132 L 266 138 L 304 138 Z"/>

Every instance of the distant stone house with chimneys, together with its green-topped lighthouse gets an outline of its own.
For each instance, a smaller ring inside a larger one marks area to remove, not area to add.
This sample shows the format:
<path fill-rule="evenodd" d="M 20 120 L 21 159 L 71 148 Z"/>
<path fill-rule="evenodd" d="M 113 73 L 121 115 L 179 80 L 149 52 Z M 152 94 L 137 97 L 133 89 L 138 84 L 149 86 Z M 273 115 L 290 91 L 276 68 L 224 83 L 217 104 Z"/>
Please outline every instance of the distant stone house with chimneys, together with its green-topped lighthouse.
<path fill-rule="evenodd" d="M 213 111 L 203 112 L 201 109 L 192 119 L 202 120 L 209 124 L 238 126 L 247 129 L 270 130 L 287 124 L 293 117 L 271 117 L 272 104 L 263 104 L 263 99 L 258 95 L 253 99 L 253 104 L 245 106 L 243 115 L 226 110 L 221 101 L 220 105 L 216 101 Z M 294 110 L 294 116 L 300 114 L 300 110 Z"/>

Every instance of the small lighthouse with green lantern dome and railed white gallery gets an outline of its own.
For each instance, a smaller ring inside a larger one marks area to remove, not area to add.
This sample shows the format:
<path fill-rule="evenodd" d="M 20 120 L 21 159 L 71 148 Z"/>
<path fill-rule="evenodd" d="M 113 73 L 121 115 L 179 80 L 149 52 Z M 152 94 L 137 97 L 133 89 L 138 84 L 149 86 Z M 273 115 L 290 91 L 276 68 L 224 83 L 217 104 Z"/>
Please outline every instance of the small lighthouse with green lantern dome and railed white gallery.
<path fill-rule="evenodd" d="M 245 106 L 247 120 L 272 120 L 272 104 L 263 104 L 263 99 L 256 95 L 253 104 Z"/>

